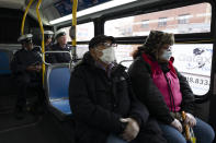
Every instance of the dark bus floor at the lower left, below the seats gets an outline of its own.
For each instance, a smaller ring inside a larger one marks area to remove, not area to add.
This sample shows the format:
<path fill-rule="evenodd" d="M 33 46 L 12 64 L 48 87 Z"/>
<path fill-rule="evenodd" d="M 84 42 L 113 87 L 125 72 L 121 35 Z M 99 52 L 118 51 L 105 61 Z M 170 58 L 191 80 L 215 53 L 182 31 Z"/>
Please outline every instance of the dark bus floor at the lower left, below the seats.
<path fill-rule="evenodd" d="M 0 115 L 0 143 L 73 143 L 69 139 L 72 135 L 65 132 L 68 131 L 49 111 L 37 117 L 27 115 L 23 120 L 15 120 L 10 114 Z"/>

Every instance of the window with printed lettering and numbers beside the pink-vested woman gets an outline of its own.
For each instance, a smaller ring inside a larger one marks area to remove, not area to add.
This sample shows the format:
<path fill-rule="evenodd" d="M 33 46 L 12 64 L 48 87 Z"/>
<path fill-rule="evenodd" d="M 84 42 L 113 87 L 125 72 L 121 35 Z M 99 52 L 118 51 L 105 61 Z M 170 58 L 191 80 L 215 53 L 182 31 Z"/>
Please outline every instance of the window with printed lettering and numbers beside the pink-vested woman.
<path fill-rule="evenodd" d="M 181 72 L 195 95 L 209 90 L 213 44 L 177 44 L 172 47 L 174 67 Z"/>

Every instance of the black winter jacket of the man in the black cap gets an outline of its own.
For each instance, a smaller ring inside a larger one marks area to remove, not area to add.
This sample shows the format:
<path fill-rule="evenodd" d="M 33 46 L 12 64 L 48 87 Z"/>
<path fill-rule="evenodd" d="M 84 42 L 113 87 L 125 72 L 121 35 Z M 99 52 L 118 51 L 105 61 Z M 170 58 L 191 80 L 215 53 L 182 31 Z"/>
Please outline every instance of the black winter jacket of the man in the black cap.
<path fill-rule="evenodd" d="M 121 68 L 113 70 L 109 78 L 104 70 L 95 65 L 89 52 L 75 67 L 69 85 L 69 100 L 78 143 L 105 143 L 110 134 L 120 135 L 123 132 L 120 119 L 127 117 L 137 120 L 140 127 L 151 129 L 154 135 L 161 133 L 157 122 L 148 120 L 148 110 L 134 96 L 126 79 L 126 73 Z M 152 143 L 166 142 L 162 136 L 156 139 Z"/>

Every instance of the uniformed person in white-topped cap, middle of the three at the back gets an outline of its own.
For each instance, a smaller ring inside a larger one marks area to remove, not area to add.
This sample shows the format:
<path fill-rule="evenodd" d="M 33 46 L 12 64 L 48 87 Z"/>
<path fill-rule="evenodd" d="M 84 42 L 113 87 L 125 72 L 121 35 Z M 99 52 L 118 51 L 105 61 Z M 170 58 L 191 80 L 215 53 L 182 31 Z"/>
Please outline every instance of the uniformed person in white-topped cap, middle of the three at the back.
<path fill-rule="evenodd" d="M 54 32 L 52 31 L 45 31 L 44 32 L 44 38 L 45 38 L 45 51 L 52 50 L 53 47 L 53 36 Z M 53 61 L 53 53 L 46 53 L 45 55 L 45 61 L 50 63 Z"/>

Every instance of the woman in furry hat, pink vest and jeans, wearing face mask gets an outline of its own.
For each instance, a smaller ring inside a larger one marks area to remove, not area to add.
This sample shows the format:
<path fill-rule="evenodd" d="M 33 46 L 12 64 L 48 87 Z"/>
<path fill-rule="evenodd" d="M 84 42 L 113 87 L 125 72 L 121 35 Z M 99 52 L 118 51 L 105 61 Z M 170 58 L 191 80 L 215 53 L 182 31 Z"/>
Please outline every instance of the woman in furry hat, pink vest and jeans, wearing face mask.
<path fill-rule="evenodd" d="M 193 128 L 197 143 L 212 143 L 212 127 L 193 116 L 194 95 L 186 79 L 173 67 L 173 34 L 151 31 L 144 46 L 134 52 L 128 73 L 136 96 L 160 122 L 169 143 L 186 143 L 182 135 L 181 111 Z"/>

